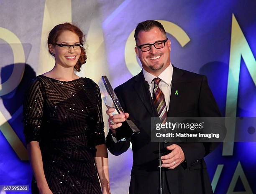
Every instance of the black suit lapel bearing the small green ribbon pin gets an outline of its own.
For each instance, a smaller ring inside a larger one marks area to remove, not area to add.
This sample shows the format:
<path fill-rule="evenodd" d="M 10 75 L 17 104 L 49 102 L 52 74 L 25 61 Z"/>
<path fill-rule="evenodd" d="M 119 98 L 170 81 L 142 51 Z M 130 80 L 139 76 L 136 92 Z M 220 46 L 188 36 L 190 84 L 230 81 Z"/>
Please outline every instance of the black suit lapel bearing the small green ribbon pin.
<path fill-rule="evenodd" d="M 172 89 L 171 89 L 171 97 L 169 103 L 169 111 L 168 117 L 175 117 L 177 114 L 177 110 L 179 108 L 179 104 L 181 101 L 182 93 L 184 90 L 184 82 L 182 82 L 182 75 L 184 73 L 182 70 L 173 66 L 172 73 Z"/>

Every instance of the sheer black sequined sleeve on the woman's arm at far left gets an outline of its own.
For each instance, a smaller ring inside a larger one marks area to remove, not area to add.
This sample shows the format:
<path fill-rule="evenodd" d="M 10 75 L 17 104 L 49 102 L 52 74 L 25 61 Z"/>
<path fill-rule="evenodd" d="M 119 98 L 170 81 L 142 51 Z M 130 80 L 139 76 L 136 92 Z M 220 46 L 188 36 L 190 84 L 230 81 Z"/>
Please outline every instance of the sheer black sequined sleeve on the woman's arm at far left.
<path fill-rule="evenodd" d="M 44 109 L 44 88 L 40 80 L 35 78 L 26 92 L 23 103 L 23 124 L 26 143 L 40 142 L 42 117 Z"/>

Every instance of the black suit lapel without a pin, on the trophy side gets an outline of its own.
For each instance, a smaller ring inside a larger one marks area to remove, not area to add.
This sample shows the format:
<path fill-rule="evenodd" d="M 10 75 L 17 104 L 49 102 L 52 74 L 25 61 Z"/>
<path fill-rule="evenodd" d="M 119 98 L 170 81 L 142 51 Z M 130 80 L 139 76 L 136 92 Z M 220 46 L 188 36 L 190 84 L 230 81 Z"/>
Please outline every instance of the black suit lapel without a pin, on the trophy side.
<path fill-rule="evenodd" d="M 138 96 L 140 97 L 142 103 L 148 110 L 151 117 L 154 117 L 154 115 L 158 115 L 149 91 L 148 83 L 146 82 L 142 71 L 136 76 L 133 88 L 137 92 Z"/>

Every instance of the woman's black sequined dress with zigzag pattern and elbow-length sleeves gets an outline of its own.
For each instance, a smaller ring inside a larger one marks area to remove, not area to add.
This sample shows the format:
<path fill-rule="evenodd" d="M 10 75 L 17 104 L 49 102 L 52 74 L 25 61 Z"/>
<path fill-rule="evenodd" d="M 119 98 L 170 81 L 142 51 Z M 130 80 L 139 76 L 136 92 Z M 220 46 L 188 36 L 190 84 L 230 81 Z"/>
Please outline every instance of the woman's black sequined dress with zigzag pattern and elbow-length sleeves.
<path fill-rule="evenodd" d="M 88 78 L 64 82 L 39 75 L 23 106 L 26 143 L 39 142 L 54 194 L 100 194 L 95 146 L 105 144 L 99 87 Z M 34 179 L 32 193 L 37 193 Z"/>

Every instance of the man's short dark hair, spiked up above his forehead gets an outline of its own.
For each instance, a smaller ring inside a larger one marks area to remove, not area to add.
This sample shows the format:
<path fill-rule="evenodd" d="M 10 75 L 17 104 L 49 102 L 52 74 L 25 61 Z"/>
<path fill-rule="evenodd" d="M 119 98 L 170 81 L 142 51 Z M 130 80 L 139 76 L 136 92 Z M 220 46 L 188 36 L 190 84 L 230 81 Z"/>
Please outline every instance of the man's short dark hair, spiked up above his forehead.
<path fill-rule="evenodd" d="M 159 30 L 161 32 L 163 32 L 164 35 L 166 35 L 166 32 L 164 30 L 164 26 L 155 20 L 146 20 L 144 22 L 138 23 L 138 25 L 135 28 L 135 32 L 134 32 L 134 38 L 135 38 L 135 42 L 137 42 L 138 39 L 138 33 L 141 31 L 146 31 L 148 32 L 149 30 L 151 30 L 153 27 L 159 27 Z"/>

